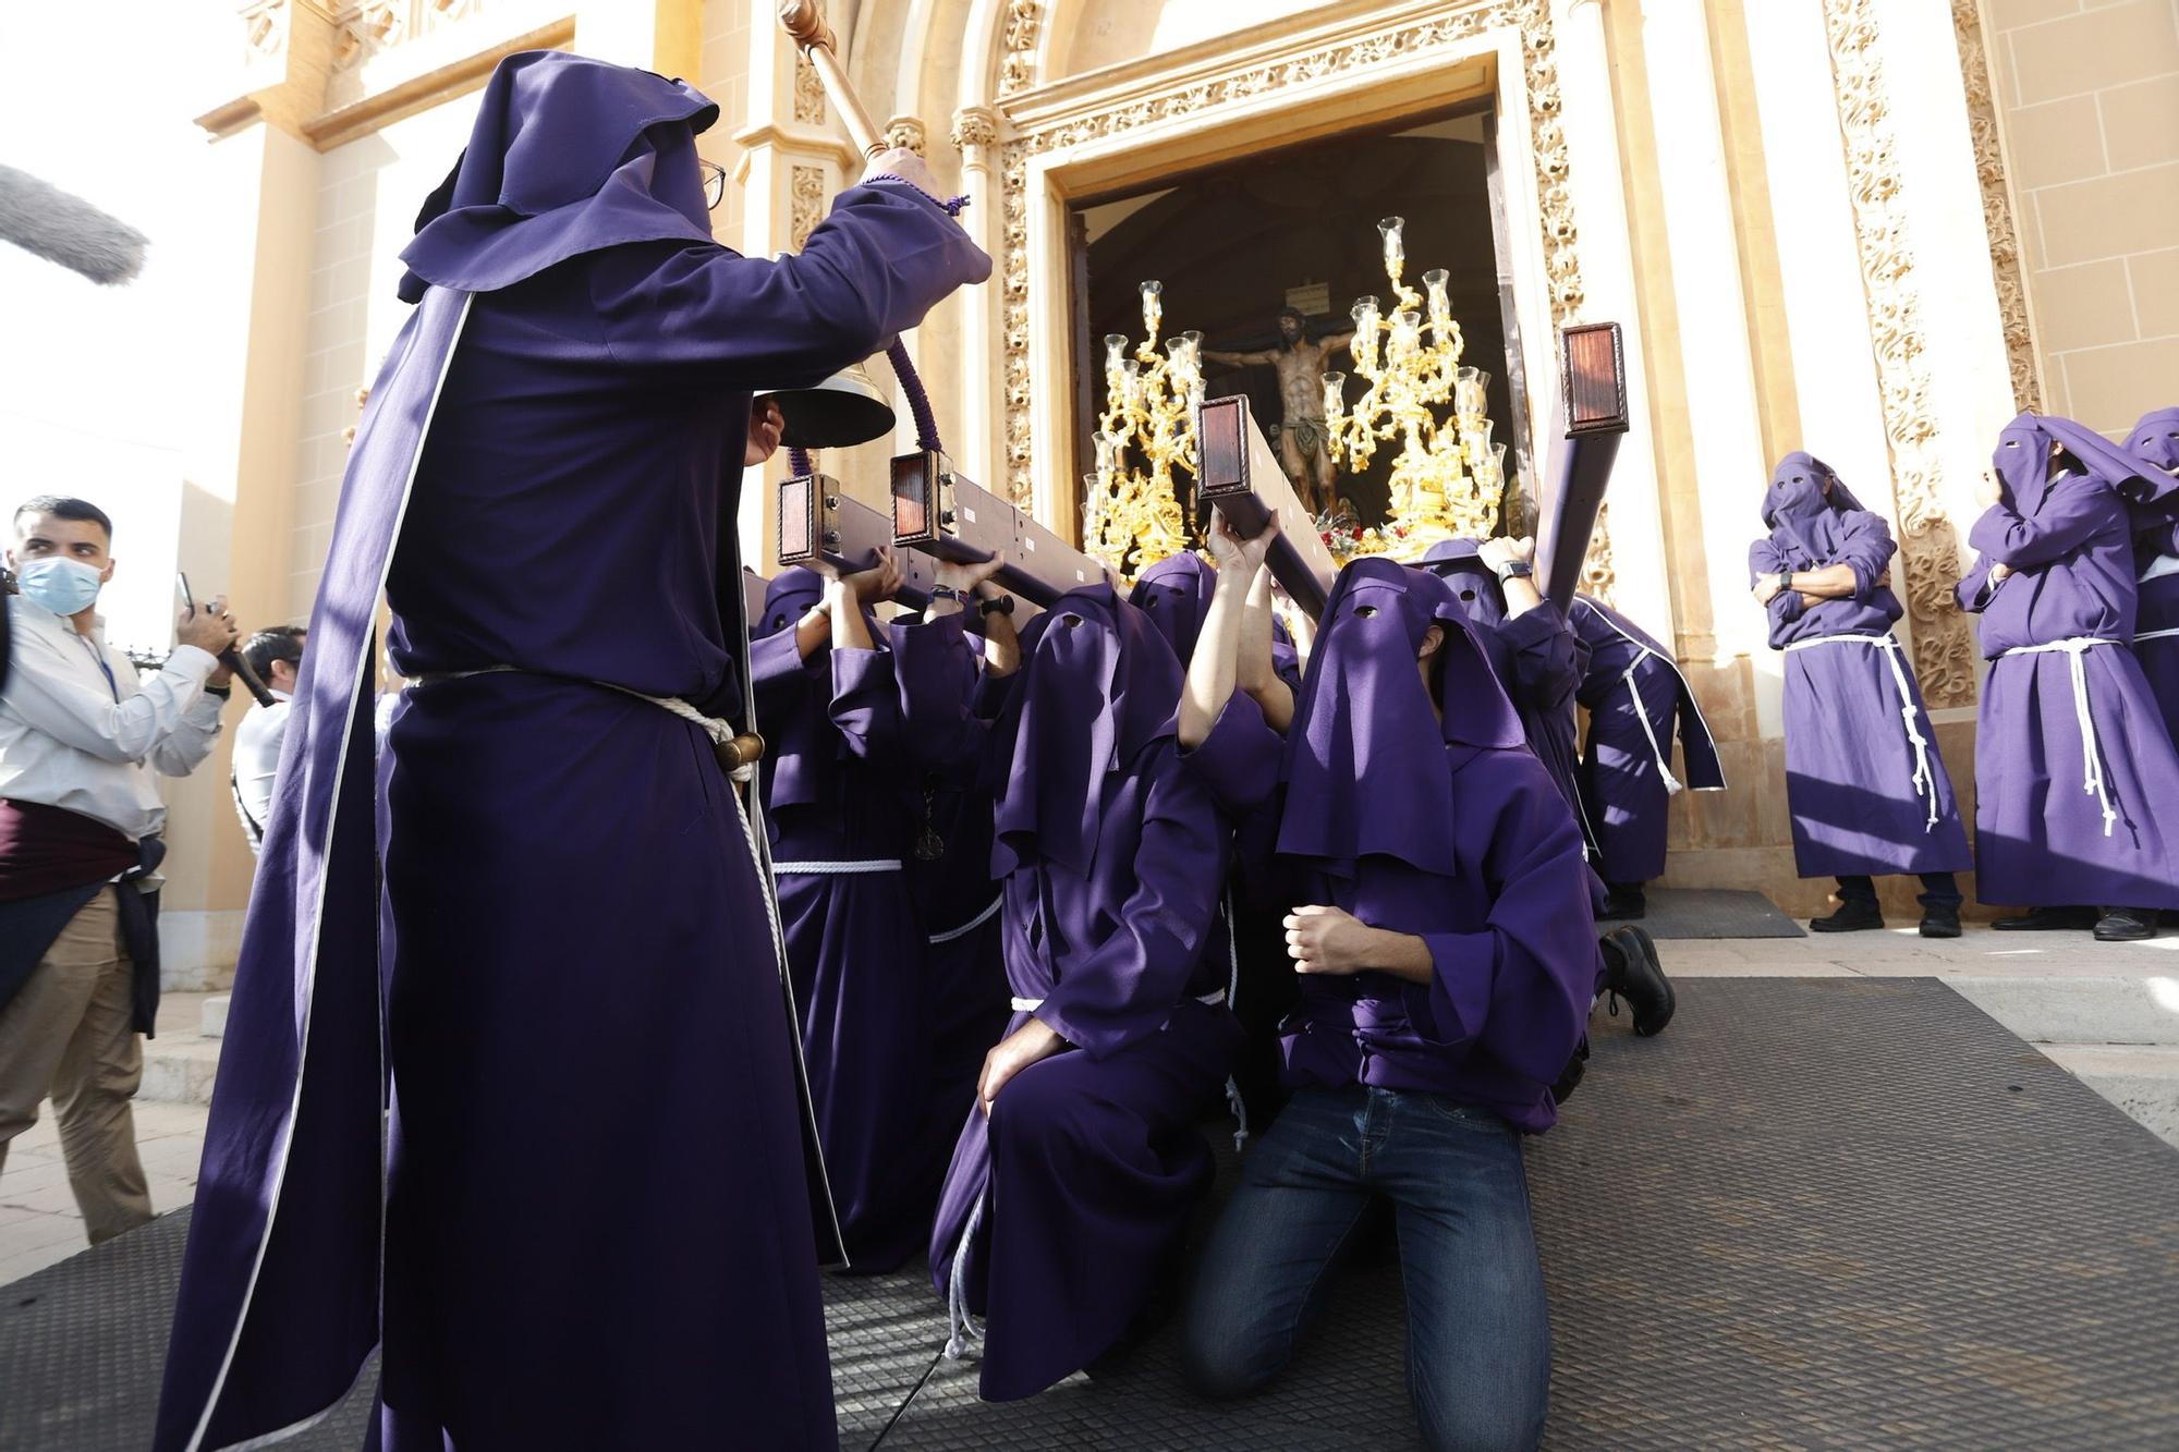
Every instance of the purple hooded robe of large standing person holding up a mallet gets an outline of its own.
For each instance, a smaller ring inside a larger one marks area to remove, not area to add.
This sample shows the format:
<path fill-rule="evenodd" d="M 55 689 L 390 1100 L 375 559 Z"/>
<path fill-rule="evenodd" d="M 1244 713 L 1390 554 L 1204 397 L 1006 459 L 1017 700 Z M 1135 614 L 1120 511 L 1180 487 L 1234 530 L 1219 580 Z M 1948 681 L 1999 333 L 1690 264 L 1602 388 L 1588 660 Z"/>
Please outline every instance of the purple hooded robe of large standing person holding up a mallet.
<path fill-rule="evenodd" d="M 843 194 L 800 257 L 737 257 L 695 161 L 715 118 L 678 81 L 508 57 L 403 253 L 418 305 L 312 613 L 157 1448 L 305 1424 L 381 1341 L 388 1448 L 835 1441 L 747 824 L 706 733 L 630 691 L 743 700 L 752 386 L 869 355 L 989 262 L 902 185 Z M 375 802 L 381 586 L 425 685 Z"/>

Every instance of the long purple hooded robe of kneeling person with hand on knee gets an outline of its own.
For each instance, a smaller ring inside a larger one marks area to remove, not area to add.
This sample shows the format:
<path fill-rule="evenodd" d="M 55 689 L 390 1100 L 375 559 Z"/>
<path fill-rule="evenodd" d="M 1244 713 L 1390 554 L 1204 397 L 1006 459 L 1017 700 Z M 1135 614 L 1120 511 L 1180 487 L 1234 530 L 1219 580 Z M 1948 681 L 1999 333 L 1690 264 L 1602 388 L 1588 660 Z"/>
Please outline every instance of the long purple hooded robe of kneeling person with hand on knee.
<path fill-rule="evenodd" d="M 1227 837 L 1181 767 L 1181 667 L 1109 586 L 1063 595 L 1022 632 L 996 722 L 965 711 L 961 617 L 893 628 L 909 730 L 981 739 L 996 800 L 991 872 L 1015 1016 L 1070 1049 L 970 1108 L 930 1232 L 930 1275 L 985 1315 L 981 1391 L 1044 1391 L 1109 1350 L 1209 1188 L 1196 1114 L 1238 1040 L 1229 966 L 1207 953 Z"/>

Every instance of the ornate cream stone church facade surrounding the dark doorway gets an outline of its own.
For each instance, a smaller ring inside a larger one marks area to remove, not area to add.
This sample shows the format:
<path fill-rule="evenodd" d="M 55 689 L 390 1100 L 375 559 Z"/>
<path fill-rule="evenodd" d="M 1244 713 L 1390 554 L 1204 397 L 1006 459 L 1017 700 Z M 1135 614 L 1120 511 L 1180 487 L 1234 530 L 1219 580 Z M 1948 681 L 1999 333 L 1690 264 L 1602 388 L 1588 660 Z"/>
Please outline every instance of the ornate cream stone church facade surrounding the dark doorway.
<path fill-rule="evenodd" d="M 1763 887 L 1795 911 L 1828 890 L 1793 879 L 1780 667 L 1745 593 L 1772 460 L 1809 447 L 1891 515 L 1902 634 L 1972 802 L 1976 658 L 1946 593 L 1996 427 L 2037 399 L 2105 429 L 2175 401 L 2172 0 L 830 9 L 865 109 L 974 198 L 965 222 L 998 264 L 911 338 L 941 432 L 972 477 L 1059 530 L 1081 471 L 1072 198 L 1462 98 L 1495 107 L 1532 392 L 1556 388 L 1556 325 L 1628 329 L 1634 429 L 1593 582 L 1673 643 L 1732 778 L 1676 802 L 1669 881 Z M 309 606 L 342 429 L 399 323 L 394 253 L 499 55 L 571 46 L 697 78 L 721 105 L 702 148 L 734 174 L 715 231 L 750 255 L 793 246 L 856 170 L 758 0 L 251 0 L 229 24 L 235 68 L 200 122 L 248 198 L 222 225 L 253 266 L 224 279 L 242 323 L 207 438 L 261 475 L 233 532 L 279 541 L 251 586 L 266 615 Z M 876 501 L 904 447 L 828 469 Z M 743 534 L 769 558 L 756 484 Z M 242 892 L 244 870 L 216 874 L 207 907 Z"/>

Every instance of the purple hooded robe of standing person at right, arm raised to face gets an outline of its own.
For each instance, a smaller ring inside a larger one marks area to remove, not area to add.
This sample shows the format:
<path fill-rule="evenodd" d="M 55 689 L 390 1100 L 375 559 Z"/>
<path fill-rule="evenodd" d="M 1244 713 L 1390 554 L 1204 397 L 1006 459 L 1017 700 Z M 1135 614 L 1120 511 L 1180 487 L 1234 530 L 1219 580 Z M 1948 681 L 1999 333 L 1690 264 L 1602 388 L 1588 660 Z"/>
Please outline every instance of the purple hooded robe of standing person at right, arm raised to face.
<path fill-rule="evenodd" d="M 2066 456 L 2053 475 L 2050 445 Z M 2179 907 L 2179 748 L 2133 658 L 2129 506 L 2179 482 L 2070 419 L 2020 414 L 1992 460 L 2005 497 L 1968 543 L 1983 617 L 1974 861 L 1985 903 Z M 2153 477 L 2146 477 L 2153 475 Z M 1989 582 L 1989 567 L 2016 573 Z"/>

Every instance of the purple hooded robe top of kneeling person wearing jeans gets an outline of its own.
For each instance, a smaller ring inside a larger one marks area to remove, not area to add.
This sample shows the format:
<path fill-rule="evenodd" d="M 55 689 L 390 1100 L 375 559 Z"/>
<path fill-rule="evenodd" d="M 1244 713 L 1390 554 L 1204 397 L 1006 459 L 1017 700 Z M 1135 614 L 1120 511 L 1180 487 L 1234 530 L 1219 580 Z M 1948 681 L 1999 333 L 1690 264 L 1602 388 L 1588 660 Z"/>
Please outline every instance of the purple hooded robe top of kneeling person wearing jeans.
<path fill-rule="evenodd" d="M 1432 624 L 1440 715 L 1416 671 Z M 1421 1090 L 1549 1129 L 1597 972 L 1582 835 L 1447 584 L 1349 562 L 1286 741 L 1235 695 L 1192 763 L 1229 809 L 1277 804 L 1288 903 L 1429 944 L 1429 983 L 1301 975 L 1288 1084 Z"/>

